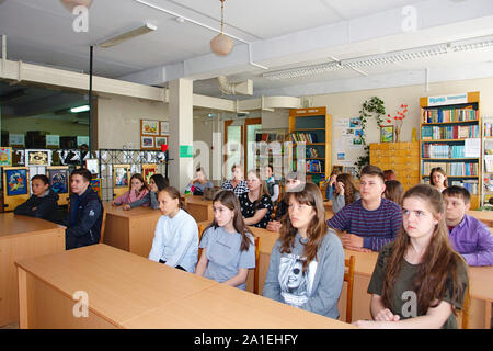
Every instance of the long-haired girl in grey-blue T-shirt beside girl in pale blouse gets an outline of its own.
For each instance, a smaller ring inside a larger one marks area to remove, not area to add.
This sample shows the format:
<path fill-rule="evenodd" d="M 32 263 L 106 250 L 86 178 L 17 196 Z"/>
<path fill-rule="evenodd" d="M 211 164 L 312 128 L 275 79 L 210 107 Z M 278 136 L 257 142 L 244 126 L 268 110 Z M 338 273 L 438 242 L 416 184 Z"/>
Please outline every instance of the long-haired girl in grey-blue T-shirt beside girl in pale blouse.
<path fill-rule="evenodd" d="M 255 244 L 243 223 L 238 197 L 223 190 L 214 197 L 213 210 L 214 220 L 202 236 L 195 274 L 245 290 L 249 269 L 255 268 Z"/>

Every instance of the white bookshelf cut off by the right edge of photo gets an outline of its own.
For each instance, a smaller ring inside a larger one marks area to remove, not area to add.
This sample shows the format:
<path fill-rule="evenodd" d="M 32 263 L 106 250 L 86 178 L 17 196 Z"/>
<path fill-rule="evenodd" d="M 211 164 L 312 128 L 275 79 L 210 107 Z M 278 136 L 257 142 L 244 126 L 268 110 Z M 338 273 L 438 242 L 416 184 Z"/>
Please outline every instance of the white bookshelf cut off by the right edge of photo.
<path fill-rule="evenodd" d="M 481 204 L 493 197 L 493 117 L 483 117 Z"/>

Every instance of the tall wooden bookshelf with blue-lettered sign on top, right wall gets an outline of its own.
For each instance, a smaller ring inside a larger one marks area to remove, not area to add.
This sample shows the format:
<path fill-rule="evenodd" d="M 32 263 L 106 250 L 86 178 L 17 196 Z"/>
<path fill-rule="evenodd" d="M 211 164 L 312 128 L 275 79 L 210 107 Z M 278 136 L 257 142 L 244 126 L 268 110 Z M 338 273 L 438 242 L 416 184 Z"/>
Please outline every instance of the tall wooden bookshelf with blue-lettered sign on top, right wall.
<path fill-rule="evenodd" d="M 470 139 L 482 138 L 480 93 L 424 97 L 420 99 L 420 106 L 421 181 L 429 183 L 432 168 L 442 167 L 448 184 L 467 188 L 471 193 L 471 208 L 478 208 L 483 162 L 481 151 L 469 155 L 466 145 Z"/>

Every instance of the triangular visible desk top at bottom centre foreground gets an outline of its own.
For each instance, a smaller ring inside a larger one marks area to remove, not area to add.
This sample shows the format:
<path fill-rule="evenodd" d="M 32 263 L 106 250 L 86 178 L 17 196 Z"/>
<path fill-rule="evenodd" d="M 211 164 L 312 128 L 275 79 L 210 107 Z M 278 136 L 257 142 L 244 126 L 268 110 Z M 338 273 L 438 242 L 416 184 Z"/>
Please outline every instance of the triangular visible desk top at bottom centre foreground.
<path fill-rule="evenodd" d="M 124 324 L 125 328 L 355 329 L 225 284 L 174 301 Z"/>

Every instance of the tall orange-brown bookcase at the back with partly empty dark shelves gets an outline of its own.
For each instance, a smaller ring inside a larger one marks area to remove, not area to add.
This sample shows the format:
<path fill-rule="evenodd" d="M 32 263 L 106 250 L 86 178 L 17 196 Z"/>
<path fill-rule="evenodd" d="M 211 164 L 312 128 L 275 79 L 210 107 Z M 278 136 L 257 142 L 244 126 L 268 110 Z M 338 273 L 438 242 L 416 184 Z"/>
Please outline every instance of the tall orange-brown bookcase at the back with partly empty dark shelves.
<path fill-rule="evenodd" d="M 332 116 L 326 114 L 326 107 L 289 110 L 290 169 L 305 169 L 307 180 L 316 184 L 323 181 L 332 170 L 331 136 Z"/>

